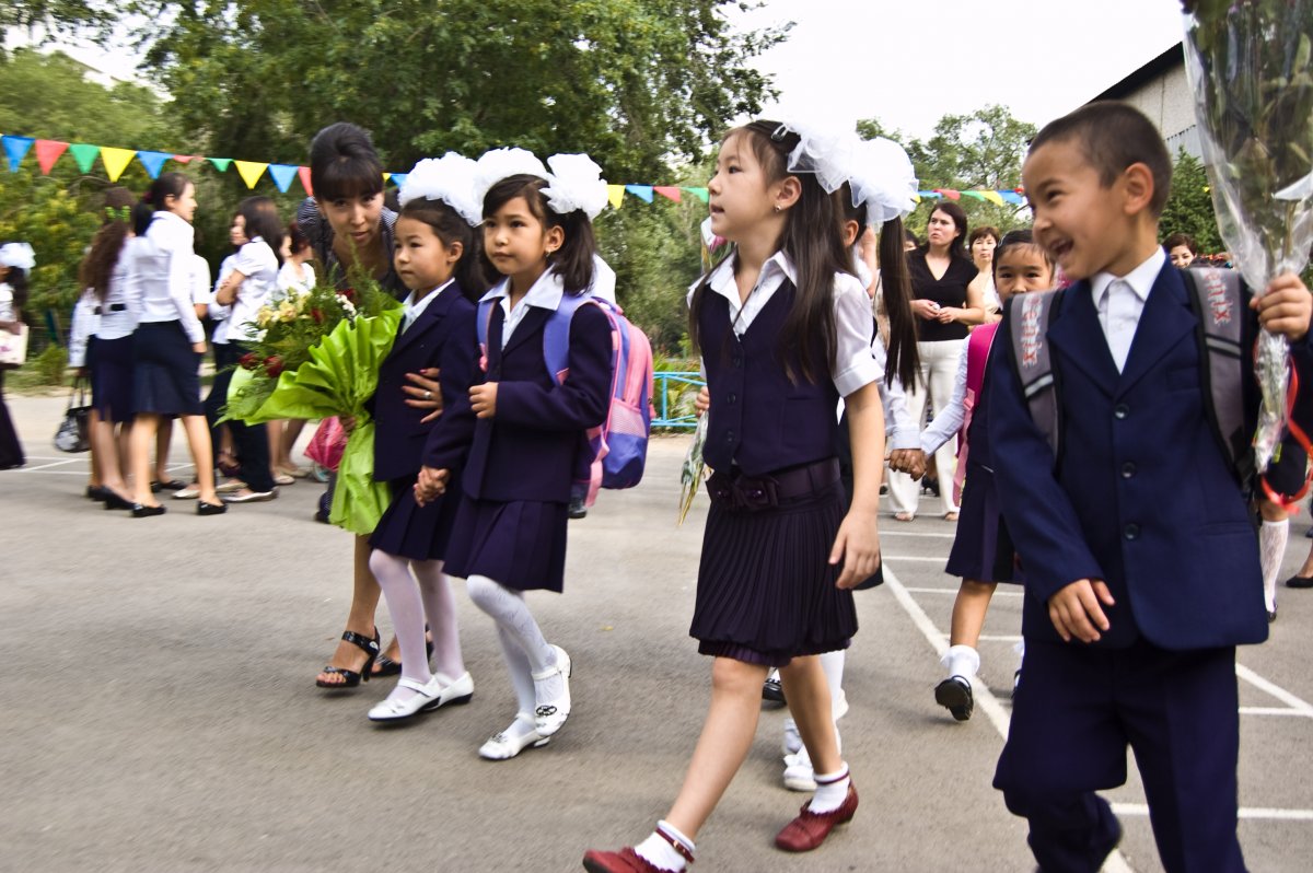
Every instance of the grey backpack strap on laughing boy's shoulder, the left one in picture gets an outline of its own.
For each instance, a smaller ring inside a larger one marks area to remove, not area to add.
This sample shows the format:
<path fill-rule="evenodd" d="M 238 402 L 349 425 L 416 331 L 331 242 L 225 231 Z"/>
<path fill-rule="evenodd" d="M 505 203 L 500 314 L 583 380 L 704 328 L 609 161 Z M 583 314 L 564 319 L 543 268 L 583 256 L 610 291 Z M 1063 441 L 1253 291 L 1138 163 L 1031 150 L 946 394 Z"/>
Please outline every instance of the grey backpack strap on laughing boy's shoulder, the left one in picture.
<path fill-rule="evenodd" d="M 1012 316 L 1008 323 L 1012 366 L 1031 417 L 1053 449 L 1054 467 L 1062 457 L 1062 403 L 1048 332 L 1062 309 L 1062 290 L 1032 291 L 1008 302 Z"/>

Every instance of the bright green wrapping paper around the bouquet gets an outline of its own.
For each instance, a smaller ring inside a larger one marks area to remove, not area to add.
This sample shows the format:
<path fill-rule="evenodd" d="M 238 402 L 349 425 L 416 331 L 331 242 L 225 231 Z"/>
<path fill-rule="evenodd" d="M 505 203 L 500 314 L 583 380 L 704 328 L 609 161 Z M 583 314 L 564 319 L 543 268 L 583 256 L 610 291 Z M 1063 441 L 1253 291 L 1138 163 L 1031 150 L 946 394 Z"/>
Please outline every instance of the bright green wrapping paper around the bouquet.
<path fill-rule="evenodd" d="M 374 482 L 374 423 L 365 403 L 378 389 L 378 368 L 393 348 L 400 320 L 402 307 L 397 306 L 379 315 L 343 322 L 310 349 L 309 361 L 278 377 L 278 385 L 259 410 L 243 416 L 247 424 L 335 415 L 356 419 L 337 467 L 328 521 L 360 536 L 374 532 L 391 503 L 387 486 Z M 234 374 L 230 400 L 249 378 L 246 370 Z"/>

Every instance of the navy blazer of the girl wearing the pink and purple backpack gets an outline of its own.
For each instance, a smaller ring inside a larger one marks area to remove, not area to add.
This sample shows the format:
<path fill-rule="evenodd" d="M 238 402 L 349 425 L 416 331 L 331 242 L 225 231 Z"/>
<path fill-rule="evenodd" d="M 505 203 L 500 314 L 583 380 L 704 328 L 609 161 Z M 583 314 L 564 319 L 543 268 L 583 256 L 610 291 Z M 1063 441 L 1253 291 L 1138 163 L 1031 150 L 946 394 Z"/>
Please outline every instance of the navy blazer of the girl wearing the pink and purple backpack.
<path fill-rule="evenodd" d="M 475 500 L 567 503 L 583 432 L 607 416 L 611 398 L 611 323 L 596 306 L 570 320 L 570 372 L 548 375 L 542 327 L 533 307 L 502 348 L 506 314 L 494 305 L 487 333 L 487 381 L 498 383 L 496 414 L 478 419 L 465 465 L 465 494 Z M 445 419 L 446 415 L 444 414 Z M 446 425 L 435 431 L 445 440 Z"/>

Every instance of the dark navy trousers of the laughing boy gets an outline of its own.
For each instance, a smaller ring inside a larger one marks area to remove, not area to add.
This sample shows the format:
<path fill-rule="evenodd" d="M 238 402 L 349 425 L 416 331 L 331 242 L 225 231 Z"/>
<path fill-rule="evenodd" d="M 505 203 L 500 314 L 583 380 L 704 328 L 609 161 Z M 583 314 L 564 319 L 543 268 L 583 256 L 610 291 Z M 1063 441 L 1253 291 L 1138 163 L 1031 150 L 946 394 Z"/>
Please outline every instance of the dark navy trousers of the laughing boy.
<path fill-rule="evenodd" d="M 1095 873 L 1120 827 L 1094 792 L 1125 784 L 1129 746 L 1163 868 L 1239 873 L 1238 705 L 1234 647 L 1027 641 L 994 788 L 1029 822 L 1041 870 Z"/>

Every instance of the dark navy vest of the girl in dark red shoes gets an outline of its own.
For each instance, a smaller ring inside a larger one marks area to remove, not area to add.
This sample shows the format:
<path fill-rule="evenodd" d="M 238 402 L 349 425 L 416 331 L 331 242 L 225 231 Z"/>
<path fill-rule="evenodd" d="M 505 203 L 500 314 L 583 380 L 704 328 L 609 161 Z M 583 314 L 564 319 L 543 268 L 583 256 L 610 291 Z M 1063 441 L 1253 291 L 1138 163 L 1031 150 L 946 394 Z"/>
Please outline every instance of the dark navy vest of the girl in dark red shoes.
<path fill-rule="evenodd" d="M 826 374 L 819 385 L 805 382 L 794 365 L 794 383 L 779 353 L 794 294 L 785 281 L 742 339 L 730 330 L 729 302 L 710 289 L 702 294 L 699 331 L 712 394 L 702 456 L 713 470 L 737 466 L 760 477 L 835 457 L 839 393 L 829 378 L 830 362 L 817 354 L 813 372 Z"/>

